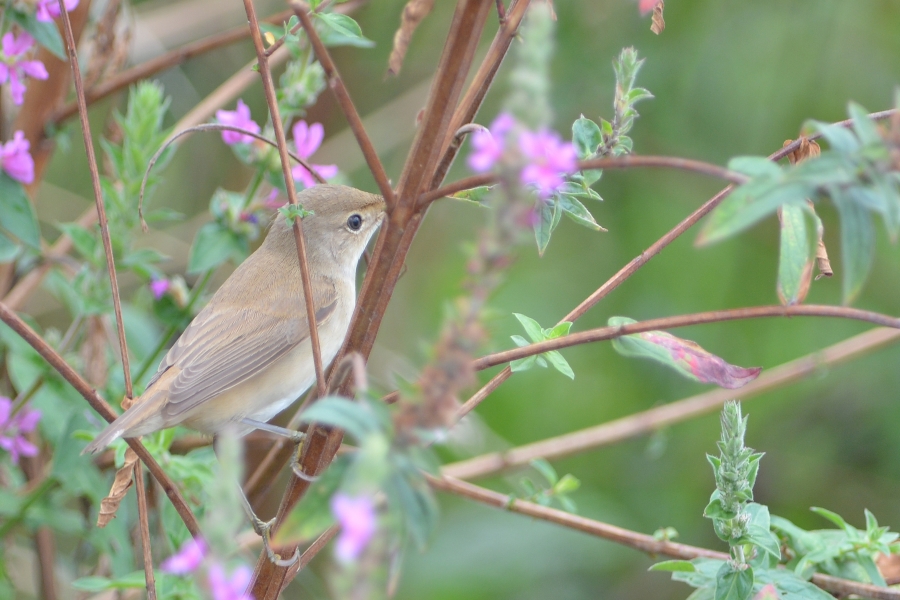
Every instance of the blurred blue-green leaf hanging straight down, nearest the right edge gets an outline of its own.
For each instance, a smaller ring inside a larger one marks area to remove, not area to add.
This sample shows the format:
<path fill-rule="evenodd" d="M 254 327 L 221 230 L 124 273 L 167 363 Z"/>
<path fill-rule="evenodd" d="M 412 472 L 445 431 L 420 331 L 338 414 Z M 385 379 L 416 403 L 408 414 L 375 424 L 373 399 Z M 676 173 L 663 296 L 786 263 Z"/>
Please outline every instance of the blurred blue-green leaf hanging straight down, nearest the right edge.
<path fill-rule="evenodd" d="M 875 257 L 875 231 L 865 208 L 839 194 L 832 195 L 841 218 L 841 257 L 844 267 L 844 304 L 862 290 Z"/>

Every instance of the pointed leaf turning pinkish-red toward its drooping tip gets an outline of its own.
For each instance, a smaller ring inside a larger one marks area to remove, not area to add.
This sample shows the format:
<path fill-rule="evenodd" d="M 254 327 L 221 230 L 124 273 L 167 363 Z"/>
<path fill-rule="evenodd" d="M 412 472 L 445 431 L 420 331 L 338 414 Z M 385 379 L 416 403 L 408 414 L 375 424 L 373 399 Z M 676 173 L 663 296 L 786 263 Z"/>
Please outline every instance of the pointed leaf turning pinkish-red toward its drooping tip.
<path fill-rule="evenodd" d="M 609 325 L 616 327 L 636 323 L 627 317 L 612 317 Z M 714 383 L 720 387 L 737 389 L 753 381 L 762 370 L 745 369 L 725 362 L 698 344 L 675 337 L 665 331 L 645 331 L 626 335 L 612 341 L 613 348 L 623 356 L 649 358 L 662 363 L 688 379 Z"/>

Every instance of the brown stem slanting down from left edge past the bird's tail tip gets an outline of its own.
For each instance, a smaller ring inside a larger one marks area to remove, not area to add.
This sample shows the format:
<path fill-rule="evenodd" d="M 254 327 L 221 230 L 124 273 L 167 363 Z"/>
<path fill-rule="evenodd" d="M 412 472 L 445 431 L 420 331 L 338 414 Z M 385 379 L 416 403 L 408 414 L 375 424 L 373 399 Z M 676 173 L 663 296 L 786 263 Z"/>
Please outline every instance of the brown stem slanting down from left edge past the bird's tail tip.
<path fill-rule="evenodd" d="M 91 405 L 91 408 L 97 411 L 108 423 L 112 423 L 116 419 L 118 415 L 113 411 L 112 407 L 107 404 L 106 400 L 101 398 L 100 394 L 98 394 L 97 391 L 92 388 L 90 384 L 86 382 L 56 350 L 53 349 L 52 346 L 50 346 L 50 344 L 44 341 L 37 332 L 29 327 L 25 321 L 20 319 L 15 312 L 10 310 L 9 307 L 2 302 L 0 302 L 0 321 L 6 323 L 10 329 L 19 335 L 19 337 L 28 342 L 28 344 L 34 348 L 51 367 L 56 369 L 56 371 L 62 375 L 63 379 L 69 382 L 69 385 L 75 388 L 75 391 L 87 400 L 87 403 Z M 200 526 L 197 523 L 197 518 L 191 512 L 191 509 L 187 505 L 187 502 L 185 502 L 181 492 L 175 486 L 175 482 L 162 470 L 159 463 L 157 463 L 156 459 L 147 452 L 147 449 L 140 440 L 126 438 L 125 441 L 131 449 L 134 450 L 141 461 L 147 465 L 150 473 L 153 474 L 153 477 L 162 486 L 163 491 L 165 491 L 169 500 L 171 500 L 172 505 L 175 507 L 176 512 L 178 512 L 178 515 L 181 517 L 181 520 L 184 522 L 185 527 L 187 527 L 191 535 L 198 537 L 200 535 Z"/>

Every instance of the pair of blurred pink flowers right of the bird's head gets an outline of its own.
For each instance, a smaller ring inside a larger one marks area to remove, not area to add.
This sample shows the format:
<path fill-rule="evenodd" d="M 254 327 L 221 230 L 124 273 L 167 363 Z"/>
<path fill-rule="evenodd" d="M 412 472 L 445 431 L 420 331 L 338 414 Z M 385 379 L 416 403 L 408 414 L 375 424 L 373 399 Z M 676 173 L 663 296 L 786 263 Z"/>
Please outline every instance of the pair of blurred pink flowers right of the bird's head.
<path fill-rule="evenodd" d="M 497 116 L 490 128 L 475 132 L 472 146 L 474 152 L 469 155 L 468 163 L 473 171 L 485 173 L 501 160 L 511 157 L 525 165 L 519 171 L 519 180 L 533 186 L 542 199 L 562 188 L 566 174 L 577 168 L 575 147 L 571 142 L 564 142 L 559 134 L 549 129 L 523 129 L 508 113 Z"/>

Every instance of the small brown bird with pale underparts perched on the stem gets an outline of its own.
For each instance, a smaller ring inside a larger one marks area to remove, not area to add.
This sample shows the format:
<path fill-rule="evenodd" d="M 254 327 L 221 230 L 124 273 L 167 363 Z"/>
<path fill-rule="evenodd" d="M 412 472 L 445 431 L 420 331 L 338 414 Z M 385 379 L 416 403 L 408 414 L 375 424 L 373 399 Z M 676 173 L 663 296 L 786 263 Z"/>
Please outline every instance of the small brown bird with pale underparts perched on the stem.
<path fill-rule="evenodd" d="M 316 323 L 327 365 L 356 304 L 356 267 L 384 216 L 380 196 L 338 186 L 304 190 Z M 315 380 L 293 229 L 276 216 L 262 246 L 231 274 L 175 342 L 134 405 L 84 449 L 185 425 L 241 433 L 287 408 Z"/>

